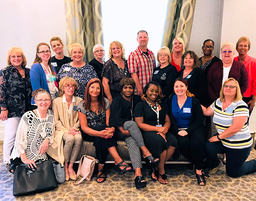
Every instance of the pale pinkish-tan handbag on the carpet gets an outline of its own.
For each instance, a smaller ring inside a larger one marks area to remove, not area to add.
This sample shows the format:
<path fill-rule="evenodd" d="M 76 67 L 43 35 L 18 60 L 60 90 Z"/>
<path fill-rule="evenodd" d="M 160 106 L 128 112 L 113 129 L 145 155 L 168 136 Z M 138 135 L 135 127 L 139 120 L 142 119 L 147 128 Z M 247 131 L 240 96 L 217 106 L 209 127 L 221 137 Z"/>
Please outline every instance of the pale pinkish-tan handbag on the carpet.
<path fill-rule="evenodd" d="M 84 179 L 87 181 L 90 181 L 91 175 L 93 175 L 95 163 L 98 163 L 98 162 L 99 161 L 93 158 L 92 156 L 83 155 L 79 161 L 79 167 L 78 167 L 76 180 L 74 181 L 74 184 L 79 184 L 82 181 L 84 181 Z M 77 181 L 79 175 L 81 175 L 81 177 L 83 178 Z"/>

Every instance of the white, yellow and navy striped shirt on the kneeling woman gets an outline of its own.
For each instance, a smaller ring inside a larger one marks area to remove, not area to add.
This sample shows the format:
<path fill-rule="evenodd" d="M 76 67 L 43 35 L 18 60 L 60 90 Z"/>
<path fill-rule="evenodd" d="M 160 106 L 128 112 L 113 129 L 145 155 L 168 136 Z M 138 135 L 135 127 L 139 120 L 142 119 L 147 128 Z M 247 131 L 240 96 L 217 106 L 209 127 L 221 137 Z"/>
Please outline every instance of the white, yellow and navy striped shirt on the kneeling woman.
<path fill-rule="evenodd" d="M 219 134 L 224 132 L 233 124 L 234 117 L 249 117 L 248 106 L 244 101 L 232 102 L 225 110 L 222 110 L 222 102 L 218 98 L 211 105 L 211 109 L 214 110 L 214 116 L 212 121 L 217 127 Z M 221 139 L 222 144 L 225 147 L 231 149 L 244 149 L 252 146 L 252 136 L 248 126 L 248 121 L 245 125 L 233 136 Z"/>

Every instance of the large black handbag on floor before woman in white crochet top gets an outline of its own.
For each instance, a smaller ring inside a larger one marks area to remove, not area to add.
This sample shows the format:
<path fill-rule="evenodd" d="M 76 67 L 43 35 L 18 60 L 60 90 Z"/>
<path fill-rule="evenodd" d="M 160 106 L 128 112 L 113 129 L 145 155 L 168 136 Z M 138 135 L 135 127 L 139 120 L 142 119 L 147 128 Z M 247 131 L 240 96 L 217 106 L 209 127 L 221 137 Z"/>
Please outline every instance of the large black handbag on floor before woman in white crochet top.
<path fill-rule="evenodd" d="M 57 187 L 52 162 L 44 160 L 35 164 L 37 167 L 33 169 L 27 164 L 16 166 L 13 181 L 14 196 L 44 192 Z"/>

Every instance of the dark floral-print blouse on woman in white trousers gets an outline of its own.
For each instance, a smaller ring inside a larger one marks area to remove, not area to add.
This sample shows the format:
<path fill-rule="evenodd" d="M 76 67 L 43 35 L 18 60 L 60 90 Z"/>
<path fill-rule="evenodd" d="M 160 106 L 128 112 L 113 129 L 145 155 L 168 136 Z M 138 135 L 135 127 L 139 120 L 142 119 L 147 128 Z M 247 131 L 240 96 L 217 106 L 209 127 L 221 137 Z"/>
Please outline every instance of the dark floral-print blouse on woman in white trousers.
<path fill-rule="evenodd" d="M 31 110 L 30 69 L 22 68 L 25 69 L 25 78 L 12 65 L 0 71 L 0 106 L 8 109 L 8 118 L 22 117 Z"/>

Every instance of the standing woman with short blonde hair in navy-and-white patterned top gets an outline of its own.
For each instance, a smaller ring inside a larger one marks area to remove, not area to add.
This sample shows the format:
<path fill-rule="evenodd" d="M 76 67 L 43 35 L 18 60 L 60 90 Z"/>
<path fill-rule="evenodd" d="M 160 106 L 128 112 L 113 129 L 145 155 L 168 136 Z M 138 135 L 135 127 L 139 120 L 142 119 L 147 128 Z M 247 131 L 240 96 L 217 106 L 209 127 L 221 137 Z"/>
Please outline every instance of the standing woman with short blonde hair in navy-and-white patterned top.
<path fill-rule="evenodd" d="M 83 62 L 83 55 L 85 53 L 84 47 L 79 43 L 74 43 L 68 48 L 73 61 L 64 64 L 58 73 L 58 78 L 72 77 L 78 83 L 76 95 L 79 98 L 84 98 L 84 91 L 89 80 L 97 77 L 94 68 L 89 64 Z"/>

